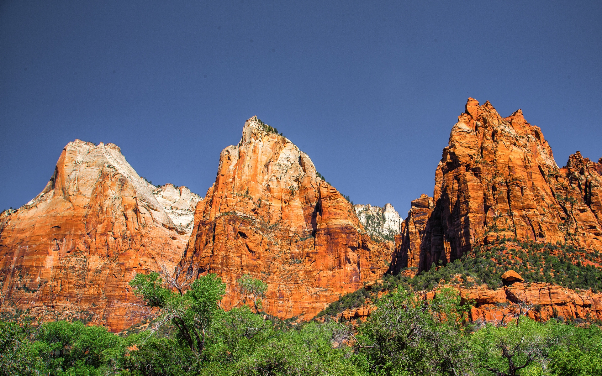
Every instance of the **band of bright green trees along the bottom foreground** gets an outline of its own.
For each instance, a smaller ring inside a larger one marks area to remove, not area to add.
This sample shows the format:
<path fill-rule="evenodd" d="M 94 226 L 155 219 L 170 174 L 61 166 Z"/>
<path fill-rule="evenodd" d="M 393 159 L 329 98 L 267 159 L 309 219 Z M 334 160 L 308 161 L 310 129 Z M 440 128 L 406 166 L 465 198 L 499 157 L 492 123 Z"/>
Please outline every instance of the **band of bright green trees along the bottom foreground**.
<path fill-rule="evenodd" d="M 146 331 L 126 337 L 81 322 L 37 327 L 0 323 L 5 375 L 602 375 L 595 326 L 468 321 L 453 289 L 433 300 L 399 289 L 365 322 L 321 322 L 281 329 L 258 312 L 264 284 L 246 276 L 247 304 L 219 307 L 215 275 L 186 286 L 158 274 L 131 285 L 160 310 Z M 167 282 L 170 282 L 169 280 Z M 185 290 L 185 291 L 184 291 Z"/>

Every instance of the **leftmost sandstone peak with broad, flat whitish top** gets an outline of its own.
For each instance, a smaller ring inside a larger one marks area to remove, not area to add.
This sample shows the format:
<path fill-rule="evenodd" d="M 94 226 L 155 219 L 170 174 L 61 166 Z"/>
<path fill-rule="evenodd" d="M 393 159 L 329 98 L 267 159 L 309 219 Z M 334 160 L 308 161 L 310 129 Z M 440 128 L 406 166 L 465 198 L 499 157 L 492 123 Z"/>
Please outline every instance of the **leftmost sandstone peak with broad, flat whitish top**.
<path fill-rule="evenodd" d="M 0 215 L 1 309 L 112 331 L 140 321 L 129 280 L 173 270 L 188 239 L 152 190 L 114 144 L 67 144 L 42 193 Z"/>

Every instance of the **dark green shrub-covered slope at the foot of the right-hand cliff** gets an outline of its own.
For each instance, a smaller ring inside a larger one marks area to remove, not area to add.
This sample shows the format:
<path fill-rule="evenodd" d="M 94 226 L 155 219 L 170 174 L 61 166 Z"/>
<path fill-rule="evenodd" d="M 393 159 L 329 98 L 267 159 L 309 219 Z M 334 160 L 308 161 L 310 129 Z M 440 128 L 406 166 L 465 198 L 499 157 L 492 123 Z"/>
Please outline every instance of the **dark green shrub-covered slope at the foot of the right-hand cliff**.
<path fill-rule="evenodd" d="M 547 282 L 569 289 L 592 289 L 598 292 L 602 290 L 602 268 L 596 262 L 599 256 L 598 253 L 587 255 L 569 244 L 501 239 L 498 244 L 489 247 L 474 247 L 471 254 L 465 254 L 446 265 L 441 262 L 433 264 L 430 270 L 413 277 L 406 275 L 406 270 L 396 276 L 386 275 L 382 283 L 372 286 L 370 291 L 359 289 L 343 295 L 317 316 L 337 315 L 345 309 L 361 306 L 368 298 L 376 301 L 379 291 L 393 291 L 396 288 L 431 290 L 442 281 L 458 283 L 458 277 L 462 285 L 467 287 L 486 284 L 491 289 L 497 289 L 502 286 L 501 275 L 507 270 L 517 271 L 527 283 Z M 408 270 L 417 271 L 416 268 Z"/>

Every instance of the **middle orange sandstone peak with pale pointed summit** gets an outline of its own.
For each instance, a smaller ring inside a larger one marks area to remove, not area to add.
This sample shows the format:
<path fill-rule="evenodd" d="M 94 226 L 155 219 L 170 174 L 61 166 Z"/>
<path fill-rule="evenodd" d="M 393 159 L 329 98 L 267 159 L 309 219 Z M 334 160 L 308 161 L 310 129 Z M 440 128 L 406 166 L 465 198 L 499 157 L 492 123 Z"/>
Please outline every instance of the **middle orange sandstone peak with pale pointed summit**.
<path fill-rule="evenodd" d="M 236 279 L 250 274 L 268 284 L 265 312 L 309 319 L 382 276 L 391 251 L 370 240 L 305 153 L 253 117 L 220 155 L 181 265 L 194 276 L 219 274 L 225 307 L 241 303 Z"/>

